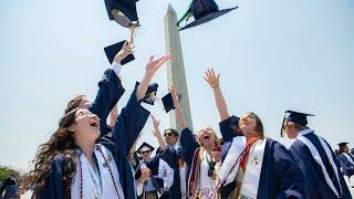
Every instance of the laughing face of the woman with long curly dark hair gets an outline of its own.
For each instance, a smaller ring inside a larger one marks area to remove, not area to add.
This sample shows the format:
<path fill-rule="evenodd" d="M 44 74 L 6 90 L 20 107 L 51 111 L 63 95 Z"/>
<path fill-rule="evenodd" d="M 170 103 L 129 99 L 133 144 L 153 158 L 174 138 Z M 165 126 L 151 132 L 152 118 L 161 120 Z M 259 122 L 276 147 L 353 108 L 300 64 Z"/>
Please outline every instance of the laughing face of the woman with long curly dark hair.
<path fill-rule="evenodd" d="M 88 109 L 77 109 L 75 123 L 71 126 L 76 142 L 92 142 L 100 137 L 100 118 Z"/>

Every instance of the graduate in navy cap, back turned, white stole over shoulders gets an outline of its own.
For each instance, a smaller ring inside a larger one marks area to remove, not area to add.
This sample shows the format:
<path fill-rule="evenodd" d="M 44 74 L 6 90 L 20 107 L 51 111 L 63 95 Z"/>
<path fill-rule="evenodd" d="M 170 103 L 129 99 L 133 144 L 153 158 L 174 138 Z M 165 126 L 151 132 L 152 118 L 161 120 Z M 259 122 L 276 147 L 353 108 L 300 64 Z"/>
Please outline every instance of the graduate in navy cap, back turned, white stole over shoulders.
<path fill-rule="evenodd" d="M 281 132 L 295 139 L 290 150 L 305 175 L 306 198 L 352 198 L 331 146 L 308 127 L 308 116 L 313 115 L 287 111 Z"/>

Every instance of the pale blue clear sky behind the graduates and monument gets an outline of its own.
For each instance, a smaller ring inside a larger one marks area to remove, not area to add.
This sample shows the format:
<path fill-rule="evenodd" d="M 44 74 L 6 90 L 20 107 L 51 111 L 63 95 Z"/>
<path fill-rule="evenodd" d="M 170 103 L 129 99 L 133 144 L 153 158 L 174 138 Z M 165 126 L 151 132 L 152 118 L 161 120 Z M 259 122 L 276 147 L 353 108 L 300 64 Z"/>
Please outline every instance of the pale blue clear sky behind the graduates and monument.
<path fill-rule="evenodd" d="M 180 15 L 187 1 L 140 0 L 143 27 L 136 61 L 123 70 L 127 92 L 140 80 L 150 54 L 165 53 L 164 14 L 171 3 Z M 313 113 L 310 126 L 336 147 L 353 143 L 354 2 L 351 0 L 218 1 L 239 9 L 180 32 L 194 128 L 218 132 L 212 93 L 202 80 L 212 66 L 221 73 L 229 111 L 248 111 L 263 121 L 266 134 L 279 137 L 285 109 Z M 55 130 L 65 103 L 76 94 L 95 96 L 110 67 L 103 48 L 127 38 L 108 21 L 103 0 L 0 1 L 0 164 L 22 170 L 39 144 Z M 155 77 L 166 93 L 166 69 Z M 148 107 L 168 126 L 160 103 Z M 144 128 L 143 139 L 157 144 Z"/>

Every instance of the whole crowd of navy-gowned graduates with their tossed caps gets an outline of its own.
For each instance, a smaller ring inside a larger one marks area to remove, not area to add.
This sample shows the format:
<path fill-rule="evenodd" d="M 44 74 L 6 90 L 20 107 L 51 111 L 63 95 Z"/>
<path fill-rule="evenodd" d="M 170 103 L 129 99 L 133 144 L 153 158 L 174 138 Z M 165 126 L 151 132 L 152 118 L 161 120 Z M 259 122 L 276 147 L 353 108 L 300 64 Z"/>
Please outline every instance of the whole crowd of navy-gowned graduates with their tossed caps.
<path fill-rule="evenodd" d="M 136 1 L 105 3 L 110 20 L 133 34 L 139 25 Z M 195 22 L 181 30 L 196 27 L 236 8 L 220 11 L 214 0 L 194 0 L 178 25 L 192 15 Z M 39 146 L 29 175 L 20 181 L 3 180 L 0 199 L 27 190 L 32 198 L 43 199 L 352 198 L 346 181 L 351 185 L 354 156 L 347 143 L 339 144 L 334 153 L 321 133 L 308 126 L 306 117 L 313 115 L 285 111 L 281 136 L 294 140 L 285 148 L 267 136 L 256 113 L 229 113 L 221 76 L 212 69 L 206 69 L 204 78 L 220 116 L 221 137 L 212 124 L 191 130 L 179 105 L 183 96 L 174 86 L 162 100 L 167 113 L 175 112 L 181 130 L 160 129 L 159 119 L 142 106 L 154 105 L 158 84 L 150 82 L 170 54 L 150 56 L 143 78 L 118 113 L 116 104 L 125 93 L 122 65 L 135 59 L 133 52 L 133 38 L 105 48 L 112 66 L 98 82 L 95 100 L 79 95 L 67 103 L 55 132 Z M 154 156 L 149 144 L 136 147 L 149 118 L 159 144 Z M 14 187 L 20 188 L 13 191 Z"/>

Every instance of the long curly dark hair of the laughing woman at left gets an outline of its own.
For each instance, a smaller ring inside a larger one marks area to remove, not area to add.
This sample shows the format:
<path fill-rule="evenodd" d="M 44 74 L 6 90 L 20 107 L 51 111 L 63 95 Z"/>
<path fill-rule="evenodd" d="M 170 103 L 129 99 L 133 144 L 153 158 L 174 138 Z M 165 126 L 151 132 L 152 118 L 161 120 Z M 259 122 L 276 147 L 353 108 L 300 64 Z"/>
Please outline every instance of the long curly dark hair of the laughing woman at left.
<path fill-rule="evenodd" d="M 70 197 L 71 185 L 76 172 L 77 146 L 75 145 L 74 133 L 70 130 L 70 126 L 75 123 L 76 112 L 79 108 L 66 113 L 59 123 L 59 127 L 51 138 L 39 146 L 37 155 L 32 160 L 33 170 L 30 171 L 28 178 L 23 180 L 23 190 L 30 186 L 35 186 L 34 197 L 45 188 L 45 179 L 52 171 L 52 163 L 56 156 L 63 158 L 63 188 L 64 196 Z"/>

